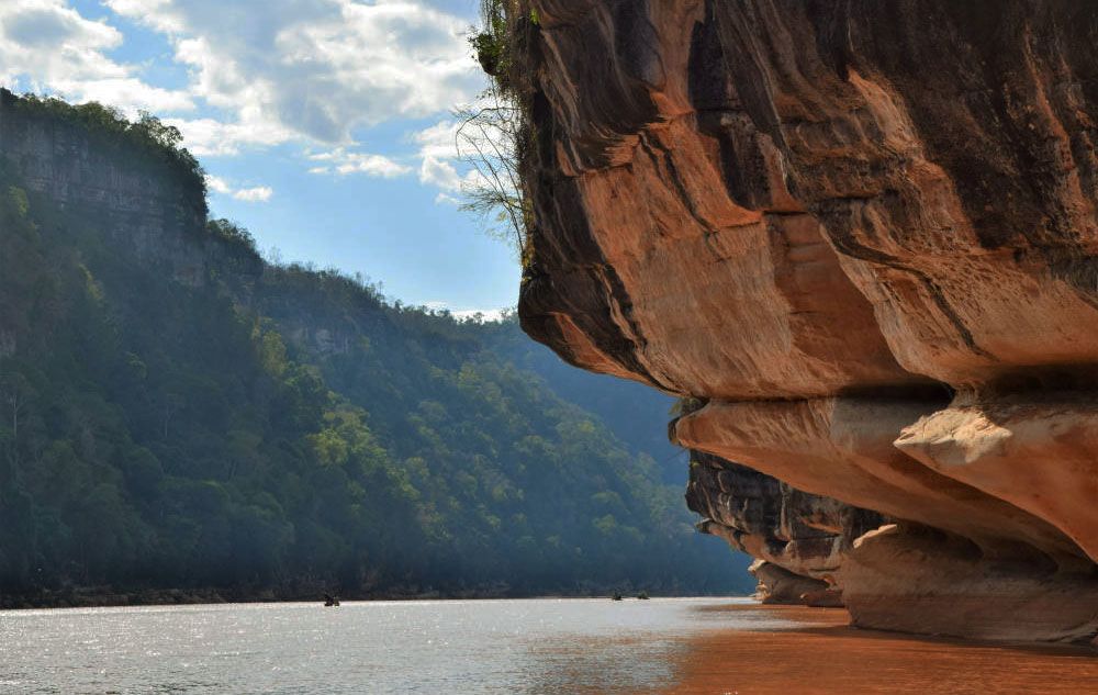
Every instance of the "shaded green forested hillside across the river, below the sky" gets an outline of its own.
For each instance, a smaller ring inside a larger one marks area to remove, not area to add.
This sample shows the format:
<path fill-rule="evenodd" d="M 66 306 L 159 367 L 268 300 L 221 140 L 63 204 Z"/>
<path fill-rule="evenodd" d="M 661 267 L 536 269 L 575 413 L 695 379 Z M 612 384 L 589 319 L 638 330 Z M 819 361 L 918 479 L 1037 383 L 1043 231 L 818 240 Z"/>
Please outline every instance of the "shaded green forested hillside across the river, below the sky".
<path fill-rule="evenodd" d="M 269 265 L 155 120 L 7 99 L 188 197 L 130 238 L 0 157 L 0 604 L 747 588 L 668 484 L 666 397 Z"/>

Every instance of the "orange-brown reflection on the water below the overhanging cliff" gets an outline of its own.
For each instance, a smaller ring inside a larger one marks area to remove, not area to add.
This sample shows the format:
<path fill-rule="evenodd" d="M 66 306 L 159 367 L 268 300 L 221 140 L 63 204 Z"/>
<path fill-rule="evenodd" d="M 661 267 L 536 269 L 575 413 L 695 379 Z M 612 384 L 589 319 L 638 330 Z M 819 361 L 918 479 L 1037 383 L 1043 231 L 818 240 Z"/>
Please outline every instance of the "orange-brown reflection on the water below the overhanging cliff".
<path fill-rule="evenodd" d="M 844 610 L 794 606 L 703 606 L 800 624 L 788 630 L 722 629 L 687 640 L 675 695 L 1098 694 L 1089 649 L 916 638 L 847 627 Z"/>

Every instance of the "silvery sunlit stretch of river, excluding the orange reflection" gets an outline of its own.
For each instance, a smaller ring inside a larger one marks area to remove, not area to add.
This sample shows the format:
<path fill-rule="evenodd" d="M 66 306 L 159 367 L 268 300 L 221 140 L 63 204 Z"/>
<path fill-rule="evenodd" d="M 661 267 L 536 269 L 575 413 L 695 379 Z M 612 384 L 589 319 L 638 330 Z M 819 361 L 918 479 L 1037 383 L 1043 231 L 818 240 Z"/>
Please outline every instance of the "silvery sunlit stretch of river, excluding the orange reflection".
<path fill-rule="evenodd" d="M 235 604 L 0 613 L 0 693 L 637 693 L 747 599 Z"/>

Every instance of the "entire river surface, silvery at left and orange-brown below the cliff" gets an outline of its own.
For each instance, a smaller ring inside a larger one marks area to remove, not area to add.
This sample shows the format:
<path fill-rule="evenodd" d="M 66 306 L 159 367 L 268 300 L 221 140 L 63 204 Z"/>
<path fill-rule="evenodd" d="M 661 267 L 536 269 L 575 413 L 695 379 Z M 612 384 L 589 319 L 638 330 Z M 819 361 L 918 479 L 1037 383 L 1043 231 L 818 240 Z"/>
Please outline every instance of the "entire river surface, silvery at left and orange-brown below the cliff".
<path fill-rule="evenodd" d="M 844 619 L 712 598 L 0 612 L 0 693 L 1085 693 L 1098 684 L 1098 661 L 1080 652 L 905 640 L 849 630 Z M 1042 681 L 1050 687 L 1030 687 Z M 1074 690 L 1055 690 L 1065 683 Z"/>

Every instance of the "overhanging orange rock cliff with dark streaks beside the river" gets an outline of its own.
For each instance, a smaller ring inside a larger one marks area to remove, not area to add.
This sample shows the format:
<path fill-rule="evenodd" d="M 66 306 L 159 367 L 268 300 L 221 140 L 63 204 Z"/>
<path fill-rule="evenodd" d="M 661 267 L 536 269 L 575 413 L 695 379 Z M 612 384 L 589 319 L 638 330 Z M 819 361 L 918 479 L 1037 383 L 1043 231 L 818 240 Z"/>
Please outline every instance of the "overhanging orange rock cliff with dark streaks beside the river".
<path fill-rule="evenodd" d="M 525 7 L 526 332 L 690 396 L 777 593 L 1093 640 L 1098 3 Z"/>

